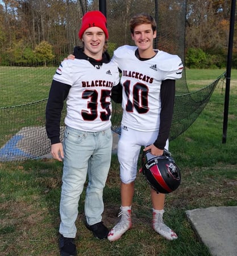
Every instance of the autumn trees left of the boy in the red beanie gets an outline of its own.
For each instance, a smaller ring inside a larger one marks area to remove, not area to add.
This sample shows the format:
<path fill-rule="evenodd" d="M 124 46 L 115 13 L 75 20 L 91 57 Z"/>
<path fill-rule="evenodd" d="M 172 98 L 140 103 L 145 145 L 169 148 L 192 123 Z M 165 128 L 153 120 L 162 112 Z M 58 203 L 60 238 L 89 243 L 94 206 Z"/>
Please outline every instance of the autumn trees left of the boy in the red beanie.
<path fill-rule="evenodd" d="M 52 55 L 58 63 L 65 52 L 76 45 L 77 30 L 86 10 L 86 1 L 73 0 L 2 0 L 0 2 L 0 62 L 27 64 L 45 62 L 35 55 L 41 42 L 52 46 Z M 21 57 L 21 58 L 20 58 Z M 52 62 L 51 58 L 46 59 Z"/>

